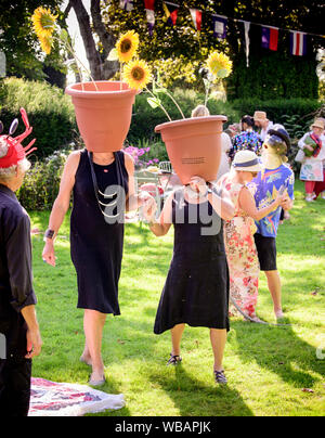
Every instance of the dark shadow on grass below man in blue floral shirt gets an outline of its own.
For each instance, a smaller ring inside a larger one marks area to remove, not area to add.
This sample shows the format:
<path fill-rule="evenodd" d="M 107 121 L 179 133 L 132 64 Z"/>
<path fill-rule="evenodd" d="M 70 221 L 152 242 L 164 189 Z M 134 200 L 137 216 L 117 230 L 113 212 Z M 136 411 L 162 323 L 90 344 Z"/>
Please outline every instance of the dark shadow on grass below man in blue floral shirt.
<path fill-rule="evenodd" d="M 311 388 L 324 375 L 325 362 L 316 358 L 316 349 L 294 332 L 294 326 L 272 327 L 247 322 L 232 322 L 236 332 L 238 355 L 246 363 L 277 374 L 294 387 Z"/>

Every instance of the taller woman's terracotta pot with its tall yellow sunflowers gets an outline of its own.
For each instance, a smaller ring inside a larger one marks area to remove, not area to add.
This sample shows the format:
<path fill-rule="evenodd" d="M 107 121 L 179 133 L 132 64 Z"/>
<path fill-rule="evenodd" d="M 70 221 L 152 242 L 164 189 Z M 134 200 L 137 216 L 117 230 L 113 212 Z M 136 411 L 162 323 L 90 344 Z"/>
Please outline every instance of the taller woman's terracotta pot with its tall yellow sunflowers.
<path fill-rule="evenodd" d="M 66 30 L 57 28 L 56 16 L 50 10 L 40 7 L 32 15 L 32 23 L 46 53 L 51 52 L 53 41 L 56 39 L 74 55 L 81 82 L 68 86 L 65 91 L 72 96 L 75 105 L 77 125 L 87 150 L 119 151 L 130 128 L 136 90 L 121 80 L 95 81 L 91 78 L 91 81 L 82 81 L 82 68 L 86 68 L 76 56 Z M 116 57 L 113 56 L 112 61 L 119 59 L 121 65 L 130 62 L 136 54 L 138 47 L 138 34 L 129 31 L 122 35 L 114 50 Z"/>

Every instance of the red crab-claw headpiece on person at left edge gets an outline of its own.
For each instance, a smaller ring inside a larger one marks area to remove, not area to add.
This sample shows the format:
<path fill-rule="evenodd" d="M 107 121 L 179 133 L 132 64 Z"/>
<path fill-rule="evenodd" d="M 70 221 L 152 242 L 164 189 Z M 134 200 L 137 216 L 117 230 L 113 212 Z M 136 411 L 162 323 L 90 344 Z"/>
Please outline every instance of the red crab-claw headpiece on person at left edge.
<path fill-rule="evenodd" d="M 16 166 L 18 162 L 24 159 L 27 155 L 29 155 L 31 152 L 37 150 L 37 147 L 32 147 L 34 143 L 36 142 L 36 139 L 31 140 L 31 142 L 24 147 L 21 143 L 23 140 L 28 137 L 32 128 L 29 125 L 27 113 L 24 108 L 21 108 L 21 115 L 24 121 L 24 125 L 26 127 L 25 132 L 22 133 L 21 136 L 17 136 L 15 138 L 12 138 L 10 136 L 0 136 L 0 143 L 6 143 L 8 145 L 8 153 L 4 157 L 0 158 L 0 168 L 8 168 L 11 166 Z"/>

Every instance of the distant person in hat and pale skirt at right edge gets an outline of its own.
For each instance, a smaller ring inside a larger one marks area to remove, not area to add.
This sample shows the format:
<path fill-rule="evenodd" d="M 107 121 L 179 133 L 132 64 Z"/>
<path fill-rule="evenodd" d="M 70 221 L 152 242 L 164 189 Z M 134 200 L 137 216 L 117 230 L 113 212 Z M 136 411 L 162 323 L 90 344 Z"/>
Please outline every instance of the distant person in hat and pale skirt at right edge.
<path fill-rule="evenodd" d="M 300 180 L 304 181 L 306 184 L 307 202 L 313 202 L 317 197 L 317 195 L 315 194 L 316 184 L 322 184 L 324 182 L 324 119 L 317 117 L 310 127 L 310 132 L 307 132 L 298 142 L 298 146 L 304 153 L 304 158 L 302 160 L 300 169 Z M 320 193 L 318 190 L 317 192 Z"/>

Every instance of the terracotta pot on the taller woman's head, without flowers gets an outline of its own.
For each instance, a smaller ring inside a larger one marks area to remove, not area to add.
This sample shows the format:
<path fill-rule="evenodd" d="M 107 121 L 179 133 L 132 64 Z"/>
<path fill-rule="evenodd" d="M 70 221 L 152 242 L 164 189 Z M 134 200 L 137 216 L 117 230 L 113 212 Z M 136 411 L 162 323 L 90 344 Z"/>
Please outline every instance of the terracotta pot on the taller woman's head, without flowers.
<path fill-rule="evenodd" d="M 75 83 L 65 92 L 73 98 L 76 119 L 91 152 L 119 151 L 131 125 L 135 90 L 119 81 Z"/>

